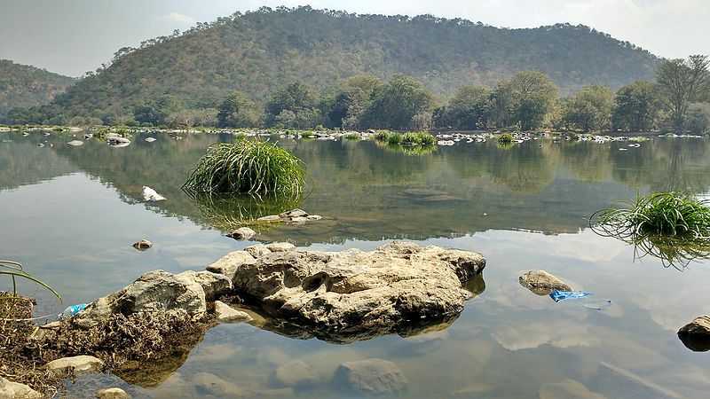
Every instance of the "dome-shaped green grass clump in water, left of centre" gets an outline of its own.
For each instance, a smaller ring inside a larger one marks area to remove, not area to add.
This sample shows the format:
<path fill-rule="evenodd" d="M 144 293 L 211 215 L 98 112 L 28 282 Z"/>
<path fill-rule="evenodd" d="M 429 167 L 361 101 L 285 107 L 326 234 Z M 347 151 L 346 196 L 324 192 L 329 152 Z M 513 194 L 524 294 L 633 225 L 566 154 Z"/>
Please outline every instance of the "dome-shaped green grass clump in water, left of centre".
<path fill-rule="evenodd" d="M 183 189 L 206 194 L 300 197 L 303 161 L 267 141 L 241 139 L 212 145 L 193 169 Z"/>

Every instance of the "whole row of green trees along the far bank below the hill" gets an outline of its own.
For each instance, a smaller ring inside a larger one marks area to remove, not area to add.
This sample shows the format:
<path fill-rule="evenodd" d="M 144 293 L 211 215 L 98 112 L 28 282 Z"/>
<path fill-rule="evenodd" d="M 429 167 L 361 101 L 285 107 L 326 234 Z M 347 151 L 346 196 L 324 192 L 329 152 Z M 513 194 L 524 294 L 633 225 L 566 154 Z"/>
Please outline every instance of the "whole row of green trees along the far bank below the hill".
<path fill-rule="evenodd" d="M 704 133 L 710 128 L 709 64 L 706 56 L 670 59 L 659 66 L 655 82 L 633 82 L 616 92 L 590 85 L 565 98 L 559 97 L 546 74 L 524 71 L 492 88 L 461 86 L 444 104 L 411 76 L 396 74 L 383 82 L 359 74 L 320 93 L 303 82 L 292 82 L 274 91 L 263 106 L 241 91 L 218 100 L 217 108 L 187 108 L 179 98 L 164 95 L 135 106 L 132 115 L 106 115 L 100 120 L 76 117 L 69 122 L 173 128 L 673 129 Z M 21 114 L 10 116 L 22 122 Z"/>

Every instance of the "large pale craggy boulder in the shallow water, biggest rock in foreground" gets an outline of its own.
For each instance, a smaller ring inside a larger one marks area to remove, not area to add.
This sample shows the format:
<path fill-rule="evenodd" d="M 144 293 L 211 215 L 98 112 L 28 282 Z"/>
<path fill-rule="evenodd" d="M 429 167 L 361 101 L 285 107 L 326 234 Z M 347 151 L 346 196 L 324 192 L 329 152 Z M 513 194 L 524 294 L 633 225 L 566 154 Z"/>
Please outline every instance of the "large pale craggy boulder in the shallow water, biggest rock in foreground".
<path fill-rule="evenodd" d="M 291 250 L 235 268 L 234 288 L 272 316 L 321 335 L 374 336 L 456 317 L 464 284 L 485 267 L 480 254 L 393 242 L 375 251 Z"/>

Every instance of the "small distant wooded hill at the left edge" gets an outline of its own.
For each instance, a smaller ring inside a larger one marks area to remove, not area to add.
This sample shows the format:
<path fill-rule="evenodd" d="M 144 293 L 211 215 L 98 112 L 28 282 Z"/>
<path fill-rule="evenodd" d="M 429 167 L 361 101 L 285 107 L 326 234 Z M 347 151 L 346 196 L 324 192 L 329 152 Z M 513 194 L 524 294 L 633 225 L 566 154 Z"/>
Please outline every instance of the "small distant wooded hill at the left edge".
<path fill-rule="evenodd" d="M 0 59 L 0 116 L 14 107 L 49 103 L 73 82 L 68 76 Z"/>

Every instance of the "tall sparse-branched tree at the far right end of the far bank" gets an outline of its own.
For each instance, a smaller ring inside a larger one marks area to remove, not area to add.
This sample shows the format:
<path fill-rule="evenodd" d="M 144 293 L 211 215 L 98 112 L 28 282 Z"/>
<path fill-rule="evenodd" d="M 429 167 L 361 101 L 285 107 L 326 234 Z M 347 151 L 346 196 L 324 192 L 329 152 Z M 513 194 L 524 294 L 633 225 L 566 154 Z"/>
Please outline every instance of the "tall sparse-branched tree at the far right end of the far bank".
<path fill-rule="evenodd" d="M 692 55 L 688 59 L 669 59 L 659 66 L 656 82 L 673 127 L 682 131 L 690 103 L 698 100 L 710 84 L 710 59 Z"/>

